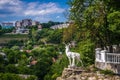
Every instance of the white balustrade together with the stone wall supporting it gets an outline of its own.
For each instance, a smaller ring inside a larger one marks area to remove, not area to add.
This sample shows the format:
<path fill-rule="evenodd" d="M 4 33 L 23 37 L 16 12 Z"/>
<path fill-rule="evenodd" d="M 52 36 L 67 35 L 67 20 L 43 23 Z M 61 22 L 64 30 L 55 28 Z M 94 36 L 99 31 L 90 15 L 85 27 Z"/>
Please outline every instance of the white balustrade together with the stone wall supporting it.
<path fill-rule="evenodd" d="M 111 70 L 120 74 L 120 45 L 96 48 L 95 66 L 102 70 Z"/>

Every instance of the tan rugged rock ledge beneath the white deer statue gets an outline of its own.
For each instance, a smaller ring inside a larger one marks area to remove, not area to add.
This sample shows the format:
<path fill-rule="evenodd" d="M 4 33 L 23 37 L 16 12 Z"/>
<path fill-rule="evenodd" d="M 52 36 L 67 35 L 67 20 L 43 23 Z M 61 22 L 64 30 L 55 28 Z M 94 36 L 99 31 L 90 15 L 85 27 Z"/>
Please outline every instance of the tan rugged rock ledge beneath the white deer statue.
<path fill-rule="evenodd" d="M 56 80 L 120 80 L 118 75 L 104 75 L 99 72 L 89 72 L 81 68 L 65 68 L 62 76 Z"/>

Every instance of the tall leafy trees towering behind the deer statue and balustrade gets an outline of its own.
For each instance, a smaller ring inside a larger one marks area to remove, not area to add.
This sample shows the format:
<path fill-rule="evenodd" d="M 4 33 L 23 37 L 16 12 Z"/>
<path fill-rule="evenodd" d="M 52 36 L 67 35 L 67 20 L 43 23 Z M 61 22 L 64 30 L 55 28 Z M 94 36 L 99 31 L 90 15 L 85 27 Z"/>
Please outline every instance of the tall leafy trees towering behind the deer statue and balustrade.
<path fill-rule="evenodd" d="M 74 22 L 74 27 L 73 29 L 68 28 L 63 33 L 63 39 L 67 41 L 76 39 L 83 59 L 90 60 L 86 62 L 93 63 L 94 59 L 91 57 L 94 54 L 90 54 L 94 53 L 93 48 L 120 43 L 118 19 L 120 8 L 118 8 L 117 2 L 119 1 L 69 0 L 70 19 Z M 113 3 L 114 5 L 112 5 Z M 69 32 L 69 30 L 75 30 L 75 32 Z M 65 35 L 69 35 L 69 37 Z M 72 35 L 74 38 L 71 38 Z"/>

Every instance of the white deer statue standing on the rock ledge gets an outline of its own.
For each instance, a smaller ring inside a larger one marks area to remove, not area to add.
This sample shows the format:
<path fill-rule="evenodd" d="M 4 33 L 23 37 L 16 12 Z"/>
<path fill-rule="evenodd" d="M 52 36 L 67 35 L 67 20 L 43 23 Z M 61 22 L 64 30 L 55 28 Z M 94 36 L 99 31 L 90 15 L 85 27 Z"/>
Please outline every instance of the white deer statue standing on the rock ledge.
<path fill-rule="evenodd" d="M 69 59 L 68 67 L 76 67 L 78 62 L 81 62 L 82 66 L 83 66 L 82 60 L 80 59 L 80 54 L 76 53 L 76 52 L 71 52 L 70 49 L 69 49 L 69 46 L 70 46 L 70 44 L 65 46 L 65 48 L 66 48 L 65 49 L 66 56 Z M 76 65 L 75 65 L 75 60 L 77 60 L 77 64 Z"/>

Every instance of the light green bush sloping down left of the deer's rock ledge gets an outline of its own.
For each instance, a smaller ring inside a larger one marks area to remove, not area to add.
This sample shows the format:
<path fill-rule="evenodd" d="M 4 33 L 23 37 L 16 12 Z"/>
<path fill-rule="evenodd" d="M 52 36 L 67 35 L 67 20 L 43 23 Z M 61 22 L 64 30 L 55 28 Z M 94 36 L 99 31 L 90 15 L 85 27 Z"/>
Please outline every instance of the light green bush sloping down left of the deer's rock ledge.
<path fill-rule="evenodd" d="M 66 55 L 59 55 L 59 59 L 51 66 L 50 71 L 44 77 L 44 80 L 56 80 L 62 74 L 62 71 L 68 65 Z"/>

